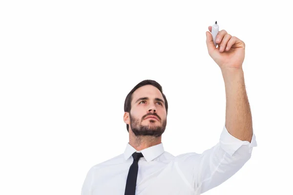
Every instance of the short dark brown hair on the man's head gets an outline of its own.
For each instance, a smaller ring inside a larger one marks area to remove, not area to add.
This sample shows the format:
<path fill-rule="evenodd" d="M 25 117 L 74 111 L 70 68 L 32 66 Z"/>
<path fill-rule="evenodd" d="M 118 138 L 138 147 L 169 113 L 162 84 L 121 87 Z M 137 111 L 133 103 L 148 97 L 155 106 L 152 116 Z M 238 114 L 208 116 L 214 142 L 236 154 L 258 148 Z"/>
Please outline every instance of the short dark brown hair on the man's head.
<path fill-rule="evenodd" d="M 138 88 L 140 88 L 142 86 L 145 86 L 145 85 L 152 85 L 152 86 L 156 87 L 158 90 L 160 90 L 160 92 L 162 93 L 162 96 L 164 98 L 166 112 L 168 114 L 168 102 L 167 102 L 167 98 L 166 98 L 165 94 L 163 94 L 162 86 L 158 82 L 156 82 L 154 80 L 143 80 L 140 83 L 138 83 L 135 87 L 133 87 L 133 89 L 126 96 L 126 99 L 125 99 L 125 102 L 124 102 L 124 112 L 128 112 L 130 114 L 131 101 L 132 101 L 132 94 L 133 94 L 133 92 L 135 90 L 137 90 Z M 128 124 L 126 124 L 126 129 L 129 132 L 129 125 Z"/>

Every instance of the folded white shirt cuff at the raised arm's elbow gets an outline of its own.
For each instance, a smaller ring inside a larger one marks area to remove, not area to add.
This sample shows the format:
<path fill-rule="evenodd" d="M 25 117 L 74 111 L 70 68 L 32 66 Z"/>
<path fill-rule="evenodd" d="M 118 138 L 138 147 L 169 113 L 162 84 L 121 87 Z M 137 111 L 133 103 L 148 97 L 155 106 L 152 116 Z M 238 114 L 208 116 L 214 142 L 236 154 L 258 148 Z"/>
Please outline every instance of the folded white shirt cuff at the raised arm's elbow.
<path fill-rule="evenodd" d="M 226 129 L 226 124 L 225 124 L 220 136 L 221 148 L 223 148 L 225 152 L 227 152 L 230 156 L 232 156 L 236 152 L 236 150 L 238 150 L 243 145 L 248 145 L 249 153 L 252 152 L 252 148 L 257 146 L 254 133 L 252 134 L 251 142 L 242 141 L 236 137 L 233 137 Z"/>

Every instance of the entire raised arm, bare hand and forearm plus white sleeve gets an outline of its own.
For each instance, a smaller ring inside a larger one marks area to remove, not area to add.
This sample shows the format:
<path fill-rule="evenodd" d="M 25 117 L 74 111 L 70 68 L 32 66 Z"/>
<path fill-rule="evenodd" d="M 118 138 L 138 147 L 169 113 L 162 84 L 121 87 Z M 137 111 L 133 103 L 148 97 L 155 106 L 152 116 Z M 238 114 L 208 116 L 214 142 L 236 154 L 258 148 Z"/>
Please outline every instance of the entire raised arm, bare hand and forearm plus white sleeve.
<path fill-rule="evenodd" d="M 216 48 L 211 34 L 206 32 L 206 35 L 209 55 L 221 68 L 225 82 L 226 121 L 215 146 L 202 154 L 188 153 L 177 157 L 178 172 L 196 195 L 233 176 L 250 159 L 252 148 L 257 146 L 242 70 L 245 44 L 222 30 L 217 35 L 219 47 Z"/>

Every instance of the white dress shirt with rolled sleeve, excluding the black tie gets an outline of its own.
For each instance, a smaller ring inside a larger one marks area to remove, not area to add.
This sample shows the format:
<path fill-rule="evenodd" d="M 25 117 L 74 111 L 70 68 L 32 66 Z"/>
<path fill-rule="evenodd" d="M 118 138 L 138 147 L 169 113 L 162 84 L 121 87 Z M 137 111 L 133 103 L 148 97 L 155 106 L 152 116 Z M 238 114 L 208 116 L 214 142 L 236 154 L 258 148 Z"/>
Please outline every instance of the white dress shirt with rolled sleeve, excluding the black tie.
<path fill-rule="evenodd" d="M 138 161 L 136 195 L 200 195 L 229 179 L 251 157 L 257 146 L 230 135 L 226 126 L 220 141 L 202 154 L 173 156 L 164 151 L 163 143 L 136 151 L 129 143 L 124 154 L 89 169 L 82 195 L 124 195 L 132 154 L 141 152 Z"/>

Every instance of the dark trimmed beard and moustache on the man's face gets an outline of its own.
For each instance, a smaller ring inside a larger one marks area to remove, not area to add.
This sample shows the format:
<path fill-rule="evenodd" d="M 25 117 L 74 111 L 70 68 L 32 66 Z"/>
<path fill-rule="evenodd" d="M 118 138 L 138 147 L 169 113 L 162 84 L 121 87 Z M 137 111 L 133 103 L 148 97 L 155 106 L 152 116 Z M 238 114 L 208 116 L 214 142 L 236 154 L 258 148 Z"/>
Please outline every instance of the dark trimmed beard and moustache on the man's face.
<path fill-rule="evenodd" d="M 148 114 L 149 115 L 149 114 Z M 142 117 L 145 118 L 148 115 Z M 156 114 L 152 114 L 160 119 L 160 117 Z M 155 121 L 156 119 L 150 119 L 148 125 L 141 125 L 140 123 L 143 120 L 139 120 L 138 118 L 131 117 L 131 114 L 129 115 L 130 118 L 130 127 L 134 135 L 137 136 L 153 136 L 153 137 L 160 137 L 166 129 L 167 126 L 167 119 L 163 120 L 162 126 L 158 126 L 155 123 L 158 121 Z M 160 121 L 159 121 L 160 122 Z"/>

